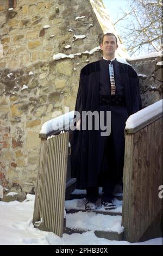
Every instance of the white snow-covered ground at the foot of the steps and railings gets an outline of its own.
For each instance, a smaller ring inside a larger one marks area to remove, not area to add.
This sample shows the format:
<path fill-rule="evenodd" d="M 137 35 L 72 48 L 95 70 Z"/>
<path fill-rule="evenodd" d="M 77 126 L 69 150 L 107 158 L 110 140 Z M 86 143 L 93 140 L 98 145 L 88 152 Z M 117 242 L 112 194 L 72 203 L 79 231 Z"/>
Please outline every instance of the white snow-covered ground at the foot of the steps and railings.
<path fill-rule="evenodd" d="M 162 243 L 161 238 L 141 243 L 110 241 L 96 237 L 93 231 L 83 234 L 64 234 L 63 237 L 59 237 L 52 232 L 33 227 L 33 209 L 34 196 L 31 195 L 22 203 L 0 202 L 0 245 L 161 245 Z"/>

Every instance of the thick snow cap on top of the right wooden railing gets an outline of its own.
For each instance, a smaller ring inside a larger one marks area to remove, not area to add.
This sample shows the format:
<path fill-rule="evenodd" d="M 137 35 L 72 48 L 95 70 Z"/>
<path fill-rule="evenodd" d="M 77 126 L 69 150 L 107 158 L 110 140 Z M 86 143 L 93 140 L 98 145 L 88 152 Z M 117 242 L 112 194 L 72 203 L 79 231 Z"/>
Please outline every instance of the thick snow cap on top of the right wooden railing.
<path fill-rule="evenodd" d="M 133 115 L 130 115 L 130 117 L 126 121 L 126 127 L 125 130 L 129 129 L 135 129 L 137 126 L 146 123 L 147 121 L 151 120 L 156 115 L 159 115 L 162 113 L 162 105 L 163 100 L 159 100 L 152 105 L 141 109 L 140 111 L 136 112 Z"/>

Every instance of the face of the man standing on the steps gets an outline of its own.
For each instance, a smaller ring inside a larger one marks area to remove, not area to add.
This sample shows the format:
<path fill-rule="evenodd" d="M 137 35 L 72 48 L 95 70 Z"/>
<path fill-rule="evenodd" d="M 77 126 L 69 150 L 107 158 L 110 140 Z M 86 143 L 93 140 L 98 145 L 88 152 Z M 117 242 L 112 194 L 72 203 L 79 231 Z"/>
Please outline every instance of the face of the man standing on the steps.
<path fill-rule="evenodd" d="M 103 44 L 100 44 L 104 56 L 112 56 L 118 48 L 114 35 L 105 35 Z"/>

